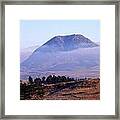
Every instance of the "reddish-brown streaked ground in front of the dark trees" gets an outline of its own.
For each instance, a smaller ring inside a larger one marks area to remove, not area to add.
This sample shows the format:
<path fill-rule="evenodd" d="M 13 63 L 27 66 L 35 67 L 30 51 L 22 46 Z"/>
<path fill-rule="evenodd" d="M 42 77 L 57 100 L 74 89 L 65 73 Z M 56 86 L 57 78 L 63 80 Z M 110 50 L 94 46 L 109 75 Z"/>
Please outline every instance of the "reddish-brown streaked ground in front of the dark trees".
<path fill-rule="evenodd" d="M 63 82 L 44 85 L 44 95 L 31 95 L 31 100 L 100 100 L 100 80 Z"/>

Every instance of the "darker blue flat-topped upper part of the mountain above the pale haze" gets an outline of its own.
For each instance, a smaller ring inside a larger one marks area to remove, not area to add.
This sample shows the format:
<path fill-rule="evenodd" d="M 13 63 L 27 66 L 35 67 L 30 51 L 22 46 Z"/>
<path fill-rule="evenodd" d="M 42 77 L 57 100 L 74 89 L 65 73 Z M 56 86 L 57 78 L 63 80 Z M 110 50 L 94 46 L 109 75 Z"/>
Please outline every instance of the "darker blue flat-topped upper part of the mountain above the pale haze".
<path fill-rule="evenodd" d="M 96 43 L 80 34 L 55 36 L 35 50 L 40 52 L 70 51 L 77 48 L 96 47 Z"/>

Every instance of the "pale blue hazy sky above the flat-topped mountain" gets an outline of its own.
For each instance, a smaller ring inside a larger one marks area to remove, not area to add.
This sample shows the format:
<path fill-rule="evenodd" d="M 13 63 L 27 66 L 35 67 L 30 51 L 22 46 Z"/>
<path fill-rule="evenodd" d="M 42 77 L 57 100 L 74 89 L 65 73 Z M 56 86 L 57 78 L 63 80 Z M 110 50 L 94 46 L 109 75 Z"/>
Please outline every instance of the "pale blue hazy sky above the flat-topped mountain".
<path fill-rule="evenodd" d="M 39 45 L 57 35 L 82 34 L 94 42 L 100 41 L 99 20 L 21 20 L 21 49 Z"/>

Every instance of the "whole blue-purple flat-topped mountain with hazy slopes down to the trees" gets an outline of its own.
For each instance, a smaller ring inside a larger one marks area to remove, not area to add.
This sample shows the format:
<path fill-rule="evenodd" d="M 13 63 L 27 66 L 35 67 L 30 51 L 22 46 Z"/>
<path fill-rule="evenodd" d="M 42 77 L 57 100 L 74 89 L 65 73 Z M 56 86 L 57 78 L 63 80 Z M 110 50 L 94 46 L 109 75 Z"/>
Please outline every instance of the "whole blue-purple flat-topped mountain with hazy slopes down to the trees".
<path fill-rule="evenodd" d="M 80 34 L 55 36 L 36 49 L 20 67 L 22 79 L 28 74 L 48 73 L 99 76 L 99 45 Z"/>

